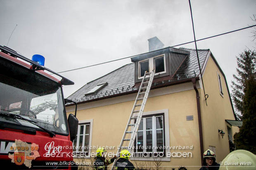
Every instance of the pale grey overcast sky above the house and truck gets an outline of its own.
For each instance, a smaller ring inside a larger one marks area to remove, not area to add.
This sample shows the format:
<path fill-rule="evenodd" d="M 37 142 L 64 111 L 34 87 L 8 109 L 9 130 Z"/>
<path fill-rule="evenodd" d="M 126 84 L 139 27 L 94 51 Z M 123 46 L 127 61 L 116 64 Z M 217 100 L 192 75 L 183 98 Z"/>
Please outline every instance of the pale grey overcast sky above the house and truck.
<path fill-rule="evenodd" d="M 191 5 L 197 39 L 256 24 L 250 19 L 256 0 L 191 0 Z M 27 58 L 41 54 L 55 72 L 148 52 L 147 39 L 154 36 L 165 47 L 194 40 L 188 0 L 0 0 L 0 30 L 1 45 L 9 40 L 8 47 Z M 211 49 L 229 86 L 235 57 L 256 46 L 252 30 L 197 42 L 198 49 Z M 128 63 L 61 73 L 75 82 L 64 87 L 64 96 Z"/>

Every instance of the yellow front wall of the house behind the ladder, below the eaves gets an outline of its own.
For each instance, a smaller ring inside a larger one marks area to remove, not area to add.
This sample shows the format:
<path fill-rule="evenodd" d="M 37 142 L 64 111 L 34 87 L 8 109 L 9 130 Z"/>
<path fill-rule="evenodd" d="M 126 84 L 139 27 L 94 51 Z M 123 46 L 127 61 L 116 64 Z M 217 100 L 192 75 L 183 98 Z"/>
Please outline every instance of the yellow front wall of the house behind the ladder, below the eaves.
<path fill-rule="evenodd" d="M 192 86 L 192 83 L 189 84 Z M 157 91 L 161 91 L 162 89 L 154 89 L 150 92 L 157 93 Z M 122 96 L 122 98 L 126 98 L 126 95 Z M 104 102 L 104 100 L 96 102 Z M 165 121 L 169 122 L 169 145 L 193 145 L 192 150 L 170 150 L 170 152 L 192 152 L 192 158 L 171 158 L 171 161 L 162 161 L 161 166 L 171 166 L 172 168 L 178 169 L 175 166 L 201 165 L 196 102 L 194 90 L 148 98 L 144 112 L 168 109 L 169 119 L 165 119 Z M 108 149 L 108 152 L 117 151 L 116 148 L 123 136 L 133 104 L 134 101 L 128 101 L 82 110 L 79 110 L 78 106 L 78 120 L 93 119 L 92 146 L 115 146 L 114 150 Z M 187 121 L 187 115 L 193 115 L 194 120 Z M 92 152 L 95 152 L 95 150 L 92 149 Z M 152 161 L 150 162 L 153 163 Z M 170 167 L 166 169 L 170 169 Z M 190 168 L 190 170 L 193 169 L 197 170 L 199 167 Z"/>

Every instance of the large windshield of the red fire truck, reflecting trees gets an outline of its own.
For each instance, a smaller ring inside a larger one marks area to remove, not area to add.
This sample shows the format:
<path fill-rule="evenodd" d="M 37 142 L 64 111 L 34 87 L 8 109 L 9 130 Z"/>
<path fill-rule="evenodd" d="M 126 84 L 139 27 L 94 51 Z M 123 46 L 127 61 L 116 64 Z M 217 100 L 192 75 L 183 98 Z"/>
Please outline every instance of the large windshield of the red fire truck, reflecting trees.
<path fill-rule="evenodd" d="M 0 72 L 0 112 L 20 115 L 57 134 L 68 134 L 61 85 L 17 65 Z M 10 116 L 0 115 L 0 123 L 42 130 Z"/>

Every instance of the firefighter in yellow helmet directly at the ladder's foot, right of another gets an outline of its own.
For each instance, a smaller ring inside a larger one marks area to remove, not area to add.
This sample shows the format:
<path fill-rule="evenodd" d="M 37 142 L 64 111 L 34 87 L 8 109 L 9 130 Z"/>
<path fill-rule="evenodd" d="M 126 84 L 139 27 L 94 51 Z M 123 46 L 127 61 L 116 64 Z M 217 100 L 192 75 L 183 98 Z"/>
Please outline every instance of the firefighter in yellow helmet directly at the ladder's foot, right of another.
<path fill-rule="evenodd" d="M 133 164 L 129 161 L 130 152 L 123 149 L 120 158 L 116 161 L 116 170 L 135 170 Z"/>

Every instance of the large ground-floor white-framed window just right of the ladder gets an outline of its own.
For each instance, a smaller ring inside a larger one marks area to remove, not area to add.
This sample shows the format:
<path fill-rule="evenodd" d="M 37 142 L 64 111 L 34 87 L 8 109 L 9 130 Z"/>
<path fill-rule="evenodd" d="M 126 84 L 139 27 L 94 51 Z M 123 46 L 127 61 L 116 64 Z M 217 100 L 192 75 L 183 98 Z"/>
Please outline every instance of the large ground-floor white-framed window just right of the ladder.
<path fill-rule="evenodd" d="M 162 156 L 159 157 L 161 161 L 171 160 L 166 157 L 170 147 L 168 120 L 168 109 L 143 112 L 131 160 L 154 161 L 157 154 Z"/>

